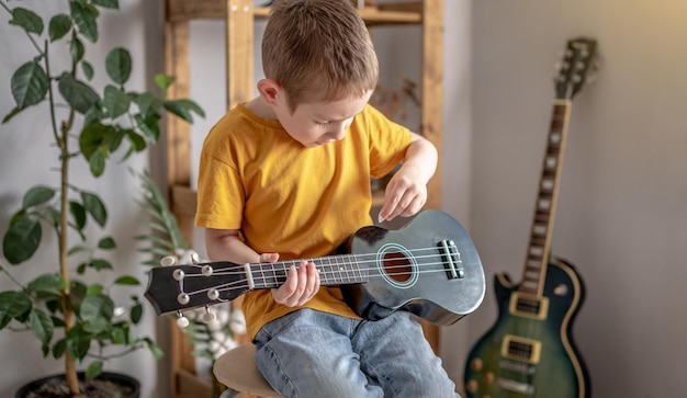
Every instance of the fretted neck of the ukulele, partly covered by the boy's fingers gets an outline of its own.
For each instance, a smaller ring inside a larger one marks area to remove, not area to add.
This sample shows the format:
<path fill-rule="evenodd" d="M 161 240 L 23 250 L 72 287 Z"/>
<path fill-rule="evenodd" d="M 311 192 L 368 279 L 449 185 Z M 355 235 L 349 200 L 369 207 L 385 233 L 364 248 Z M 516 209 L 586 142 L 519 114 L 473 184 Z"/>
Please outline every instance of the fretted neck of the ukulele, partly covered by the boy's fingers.
<path fill-rule="evenodd" d="M 356 254 L 326 255 L 307 261 L 317 264 L 319 281 L 324 286 L 347 285 L 368 282 L 367 266 L 361 268 Z M 272 263 L 247 264 L 251 288 L 277 288 L 284 284 L 292 265 L 300 266 L 301 260 Z M 251 282 L 250 282 L 251 281 Z"/>

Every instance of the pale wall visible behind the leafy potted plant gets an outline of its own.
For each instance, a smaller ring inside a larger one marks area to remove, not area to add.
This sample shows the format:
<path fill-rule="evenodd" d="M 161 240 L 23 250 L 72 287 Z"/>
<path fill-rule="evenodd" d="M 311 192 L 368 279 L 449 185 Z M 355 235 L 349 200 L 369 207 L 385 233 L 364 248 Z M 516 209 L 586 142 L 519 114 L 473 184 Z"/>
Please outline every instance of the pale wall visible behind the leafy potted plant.
<path fill-rule="evenodd" d="M 24 1 L 23 4 L 38 7 L 45 14 L 60 7 L 65 2 L 45 2 L 40 0 Z M 11 3 L 14 7 L 16 4 Z M 120 1 L 121 13 L 104 11 L 101 16 L 100 35 L 97 48 L 89 48 L 88 58 L 97 70 L 102 70 L 106 50 L 114 46 L 127 47 L 134 59 L 134 70 L 129 80 L 132 89 L 153 89 L 153 76 L 161 72 L 162 65 L 162 5 L 158 1 L 122 0 Z M 4 117 L 13 107 L 14 102 L 10 93 L 10 76 L 14 70 L 31 57 L 35 56 L 32 47 L 27 45 L 26 37 L 16 27 L 8 24 L 9 14 L 0 10 L 0 113 Z M 47 21 L 46 29 L 47 29 Z M 116 32 L 116 34 L 115 34 Z M 52 59 L 55 64 L 64 59 Z M 97 75 L 98 82 L 104 81 L 104 72 Z M 57 151 L 50 146 L 52 133 L 48 117 L 43 109 L 26 110 L 15 116 L 10 123 L 0 125 L 0 235 L 4 235 L 9 217 L 21 204 L 21 198 L 26 189 L 35 183 L 57 184 Z M 111 257 L 117 273 L 137 275 L 146 281 L 145 268 L 139 265 L 143 260 L 136 252 L 136 245 L 132 237 L 140 234 L 143 228 L 140 219 L 144 215 L 135 203 L 139 197 L 138 183 L 133 180 L 127 170 L 133 167 L 137 170 L 150 168 L 154 171 L 162 168 L 161 164 L 150 164 L 148 155 L 135 156 L 124 164 L 115 161 L 108 164 L 105 175 L 99 180 L 92 180 L 81 161 L 74 161 L 76 173 L 75 182 L 80 186 L 89 186 L 100 193 L 106 202 L 110 215 L 109 230 L 117 241 L 119 249 Z M 159 158 L 159 157 L 158 157 Z M 98 234 L 97 230 L 93 230 Z M 44 235 L 47 235 L 44 232 Z M 12 274 L 21 281 L 29 281 L 30 276 L 57 270 L 55 239 L 45 238 L 49 248 L 40 252 L 31 264 L 12 266 L 4 259 L 0 260 L 2 266 L 10 269 Z M 108 280 L 109 281 L 109 280 Z M 103 281 L 105 282 L 105 281 Z M 127 298 L 131 294 L 142 294 L 142 286 L 133 292 L 123 294 Z M 0 276 L 0 291 L 15 288 L 5 277 Z M 142 333 L 156 336 L 155 323 L 158 321 L 150 307 L 146 308 L 146 316 Z M 158 336 L 158 342 L 165 344 L 165 333 Z M 60 373 L 61 361 L 50 357 L 44 359 L 37 340 L 26 333 L 0 332 L 0 396 L 13 396 L 14 390 L 35 378 Z M 158 398 L 169 396 L 169 382 L 167 378 L 167 364 L 165 361 L 157 363 L 147 351 L 139 351 L 123 360 L 106 365 L 108 369 L 121 371 L 136 376 L 143 384 L 143 398 Z M 159 373 L 159 374 L 158 374 Z M 158 382 L 158 377 L 160 380 Z M 158 387 L 159 384 L 159 387 Z"/>

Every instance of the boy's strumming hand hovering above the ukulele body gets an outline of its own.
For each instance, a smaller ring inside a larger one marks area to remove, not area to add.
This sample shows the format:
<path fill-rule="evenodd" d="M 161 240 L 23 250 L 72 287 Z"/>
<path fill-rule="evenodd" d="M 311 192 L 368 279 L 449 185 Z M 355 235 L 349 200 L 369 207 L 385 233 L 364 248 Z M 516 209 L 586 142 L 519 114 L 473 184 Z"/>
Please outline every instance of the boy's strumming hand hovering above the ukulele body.
<path fill-rule="evenodd" d="M 427 202 L 427 185 L 419 183 L 417 170 L 404 164 L 386 184 L 384 204 L 380 209 L 379 221 L 392 220 L 396 216 L 410 217 Z"/>

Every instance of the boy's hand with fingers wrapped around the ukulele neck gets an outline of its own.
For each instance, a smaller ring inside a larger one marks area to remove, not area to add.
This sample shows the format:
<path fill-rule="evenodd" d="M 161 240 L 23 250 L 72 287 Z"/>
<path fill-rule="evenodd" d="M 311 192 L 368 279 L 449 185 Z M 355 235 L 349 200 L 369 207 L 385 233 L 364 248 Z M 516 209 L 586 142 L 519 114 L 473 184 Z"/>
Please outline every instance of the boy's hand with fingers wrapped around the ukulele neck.
<path fill-rule="evenodd" d="M 277 253 L 264 253 L 260 255 L 260 261 L 275 262 L 279 259 Z M 286 282 L 279 288 L 272 289 L 274 302 L 288 307 L 299 307 L 309 302 L 319 291 L 319 272 L 315 263 L 301 261 L 299 269 L 291 265 Z"/>

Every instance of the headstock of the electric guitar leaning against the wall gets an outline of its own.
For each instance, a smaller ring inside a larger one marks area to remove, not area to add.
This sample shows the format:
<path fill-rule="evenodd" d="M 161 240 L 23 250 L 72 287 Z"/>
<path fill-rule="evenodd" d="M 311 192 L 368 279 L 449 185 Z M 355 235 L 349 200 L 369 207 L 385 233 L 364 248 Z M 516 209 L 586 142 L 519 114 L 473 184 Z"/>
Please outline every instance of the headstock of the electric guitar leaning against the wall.
<path fill-rule="evenodd" d="M 596 71 L 597 44 L 593 38 L 578 37 L 567 41 L 563 59 L 555 77 L 559 100 L 571 100 Z"/>

